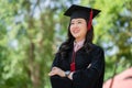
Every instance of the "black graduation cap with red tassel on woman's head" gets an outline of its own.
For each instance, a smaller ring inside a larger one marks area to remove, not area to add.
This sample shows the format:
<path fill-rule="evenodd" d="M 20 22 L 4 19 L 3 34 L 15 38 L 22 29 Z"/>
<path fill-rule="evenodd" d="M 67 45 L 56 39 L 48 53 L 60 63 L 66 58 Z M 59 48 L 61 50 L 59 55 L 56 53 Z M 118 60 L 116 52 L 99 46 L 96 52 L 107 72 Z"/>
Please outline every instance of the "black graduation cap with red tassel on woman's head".
<path fill-rule="evenodd" d="M 100 12 L 100 10 L 73 4 L 69 9 L 64 13 L 66 16 L 70 16 L 70 19 L 82 18 L 88 23 L 88 30 L 91 28 L 92 19 Z"/>

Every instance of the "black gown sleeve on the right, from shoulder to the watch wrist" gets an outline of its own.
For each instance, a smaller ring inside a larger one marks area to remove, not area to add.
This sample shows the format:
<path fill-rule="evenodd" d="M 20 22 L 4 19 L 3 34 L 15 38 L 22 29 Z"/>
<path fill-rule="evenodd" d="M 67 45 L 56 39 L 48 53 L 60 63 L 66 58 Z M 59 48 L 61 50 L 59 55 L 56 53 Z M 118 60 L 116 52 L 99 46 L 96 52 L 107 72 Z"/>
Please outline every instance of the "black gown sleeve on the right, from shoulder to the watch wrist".
<path fill-rule="evenodd" d="M 105 54 L 101 47 L 91 53 L 91 65 L 73 74 L 76 88 L 101 88 L 105 73 Z"/>

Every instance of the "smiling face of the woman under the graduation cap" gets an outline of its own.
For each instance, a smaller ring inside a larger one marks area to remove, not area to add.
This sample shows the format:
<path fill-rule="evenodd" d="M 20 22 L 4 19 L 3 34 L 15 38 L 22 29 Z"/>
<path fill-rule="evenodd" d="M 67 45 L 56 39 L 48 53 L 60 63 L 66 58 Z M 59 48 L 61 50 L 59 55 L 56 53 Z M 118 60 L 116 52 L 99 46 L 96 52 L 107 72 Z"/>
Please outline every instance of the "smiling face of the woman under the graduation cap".
<path fill-rule="evenodd" d="M 87 33 L 87 22 L 85 19 L 73 19 L 69 29 L 76 41 L 81 41 Z"/>

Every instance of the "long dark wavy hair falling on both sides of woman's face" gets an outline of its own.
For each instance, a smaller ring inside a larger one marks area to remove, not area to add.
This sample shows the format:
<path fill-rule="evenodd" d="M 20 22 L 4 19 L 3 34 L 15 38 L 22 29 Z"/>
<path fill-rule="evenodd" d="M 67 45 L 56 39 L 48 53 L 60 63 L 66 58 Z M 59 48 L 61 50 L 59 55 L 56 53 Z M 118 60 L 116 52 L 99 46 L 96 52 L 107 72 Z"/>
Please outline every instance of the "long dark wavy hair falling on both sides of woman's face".
<path fill-rule="evenodd" d="M 69 31 L 69 26 L 68 26 L 68 33 L 67 33 L 68 37 L 64 43 L 62 43 L 62 45 L 57 52 L 57 53 L 61 53 L 62 58 L 65 58 L 66 56 L 68 56 L 67 54 L 70 50 L 73 51 L 73 43 L 75 41 L 75 37 L 72 35 L 72 33 Z M 89 31 L 87 31 L 86 40 L 85 40 L 85 43 L 82 46 L 85 48 L 86 53 L 89 53 L 91 51 L 92 40 L 94 40 L 94 26 L 91 25 L 91 29 Z"/>

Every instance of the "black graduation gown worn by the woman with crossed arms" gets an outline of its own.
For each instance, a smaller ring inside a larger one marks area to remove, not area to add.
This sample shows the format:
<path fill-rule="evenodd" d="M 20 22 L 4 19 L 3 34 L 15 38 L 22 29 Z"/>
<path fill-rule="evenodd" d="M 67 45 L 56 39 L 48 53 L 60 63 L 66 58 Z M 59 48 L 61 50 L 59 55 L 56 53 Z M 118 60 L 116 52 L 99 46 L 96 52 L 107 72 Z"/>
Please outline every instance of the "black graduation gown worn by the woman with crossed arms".
<path fill-rule="evenodd" d="M 63 70 L 70 70 L 73 51 L 69 51 L 68 57 L 62 59 L 61 54 L 56 54 L 53 66 Z M 67 77 L 52 76 L 52 88 L 102 88 L 105 75 L 105 54 L 103 50 L 92 45 L 92 51 L 87 54 L 81 47 L 76 52 L 76 72 L 73 74 L 73 80 Z"/>

